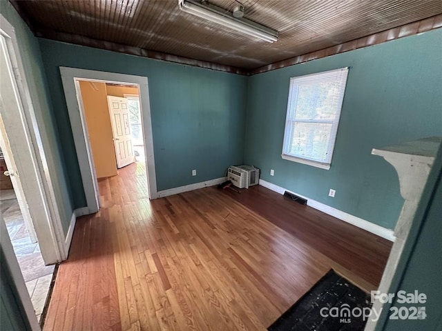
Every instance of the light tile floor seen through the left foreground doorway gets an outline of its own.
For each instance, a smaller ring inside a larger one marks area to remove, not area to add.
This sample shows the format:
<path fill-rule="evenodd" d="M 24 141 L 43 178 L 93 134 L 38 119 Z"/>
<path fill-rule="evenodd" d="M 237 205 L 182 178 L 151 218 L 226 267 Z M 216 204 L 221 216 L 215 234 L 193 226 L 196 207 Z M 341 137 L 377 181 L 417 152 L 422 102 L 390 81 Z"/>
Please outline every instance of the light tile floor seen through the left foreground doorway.
<path fill-rule="evenodd" d="M 30 241 L 13 190 L 0 192 L 0 212 L 8 228 L 35 314 L 40 321 L 55 265 L 44 265 L 39 244 Z"/>

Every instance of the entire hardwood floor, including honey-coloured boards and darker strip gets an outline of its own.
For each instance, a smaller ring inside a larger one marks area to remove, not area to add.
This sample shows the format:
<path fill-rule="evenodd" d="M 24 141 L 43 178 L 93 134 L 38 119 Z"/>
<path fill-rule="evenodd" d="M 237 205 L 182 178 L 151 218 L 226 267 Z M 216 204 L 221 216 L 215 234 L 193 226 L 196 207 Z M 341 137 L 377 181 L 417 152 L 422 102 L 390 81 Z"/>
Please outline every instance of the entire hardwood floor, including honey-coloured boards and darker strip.
<path fill-rule="evenodd" d="M 265 330 L 330 268 L 380 280 L 383 239 L 261 187 L 149 201 L 143 172 L 99 182 L 102 209 L 77 220 L 44 330 Z"/>

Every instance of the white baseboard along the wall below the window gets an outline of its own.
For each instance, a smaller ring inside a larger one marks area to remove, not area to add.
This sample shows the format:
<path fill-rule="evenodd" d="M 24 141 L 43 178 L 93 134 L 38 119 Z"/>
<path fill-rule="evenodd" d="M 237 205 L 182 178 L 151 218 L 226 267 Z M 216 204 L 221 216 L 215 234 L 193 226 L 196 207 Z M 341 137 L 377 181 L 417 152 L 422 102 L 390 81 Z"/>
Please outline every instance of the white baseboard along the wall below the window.
<path fill-rule="evenodd" d="M 352 214 L 347 214 L 347 212 L 343 212 L 342 210 L 338 210 L 336 208 L 330 207 L 329 205 L 325 205 L 324 203 L 320 203 L 319 201 L 315 201 L 313 199 L 305 197 L 305 196 L 298 194 L 296 192 L 286 190 L 285 188 L 281 188 L 278 185 L 275 185 L 273 183 L 269 183 L 268 181 L 265 181 L 264 179 L 260 179 L 260 185 L 264 186 L 265 188 L 268 188 L 269 190 L 272 190 L 274 192 L 278 192 L 279 194 L 284 194 L 285 191 L 291 192 L 293 194 L 296 194 L 298 197 L 307 199 L 307 205 L 309 205 L 311 208 L 315 208 L 317 210 L 320 210 L 321 212 L 325 212 L 325 214 L 329 214 L 333 217 L 336 217 L 336 219 L 340 219 L 341 221 L 345 221 L 347 223 L 355 225 L 358 228 L 361 228 L 361 229 L 366 230 L 368 232 L 372 232 L 372 233 L 378 235 L 379 237 L 383 237 L 387 240 L 394 241 L 396 239 L 396 237 L 394 237 L 393 230 L 383 228 L 381 225 L 377 225 L 372 222 L 365 221 L 365 219 L 360 219 L 359 217 L 356 217 Z"/>

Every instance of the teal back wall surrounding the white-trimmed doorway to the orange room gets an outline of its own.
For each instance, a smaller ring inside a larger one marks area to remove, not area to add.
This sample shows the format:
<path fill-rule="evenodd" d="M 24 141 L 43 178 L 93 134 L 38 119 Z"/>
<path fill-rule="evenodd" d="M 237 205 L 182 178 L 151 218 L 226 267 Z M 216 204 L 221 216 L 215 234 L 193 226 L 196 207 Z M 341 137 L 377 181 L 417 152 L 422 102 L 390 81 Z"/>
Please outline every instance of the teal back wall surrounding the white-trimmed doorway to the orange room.
<path fill-rule="evenodd" d="M 242 163 L 247 77 L 46 39 L 39 43 L 75 208 L 85 201 L 60 66 L 148 77 L 158 190 L 223 177 L 229 165 Z"/>

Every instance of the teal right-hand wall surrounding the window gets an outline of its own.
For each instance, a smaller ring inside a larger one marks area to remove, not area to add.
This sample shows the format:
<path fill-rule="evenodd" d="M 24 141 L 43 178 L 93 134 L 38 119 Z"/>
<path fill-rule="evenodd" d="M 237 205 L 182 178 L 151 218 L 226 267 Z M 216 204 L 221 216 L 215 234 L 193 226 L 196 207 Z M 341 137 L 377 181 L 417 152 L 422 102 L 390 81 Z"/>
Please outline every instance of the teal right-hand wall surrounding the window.
<path fill-rule="evenodd" d="M 442 29 L 249 78 L 244 162 L 283 188 L 394 228 L 403 205 L 392 165 L 372 148 L 442 135 Z M 290 77 L 349 66 L 330 170 L 283 160 Z M 275 170 L 274 177 L 270 169 Z M 328 197 L 329 188 L 336 197 Z"/>

